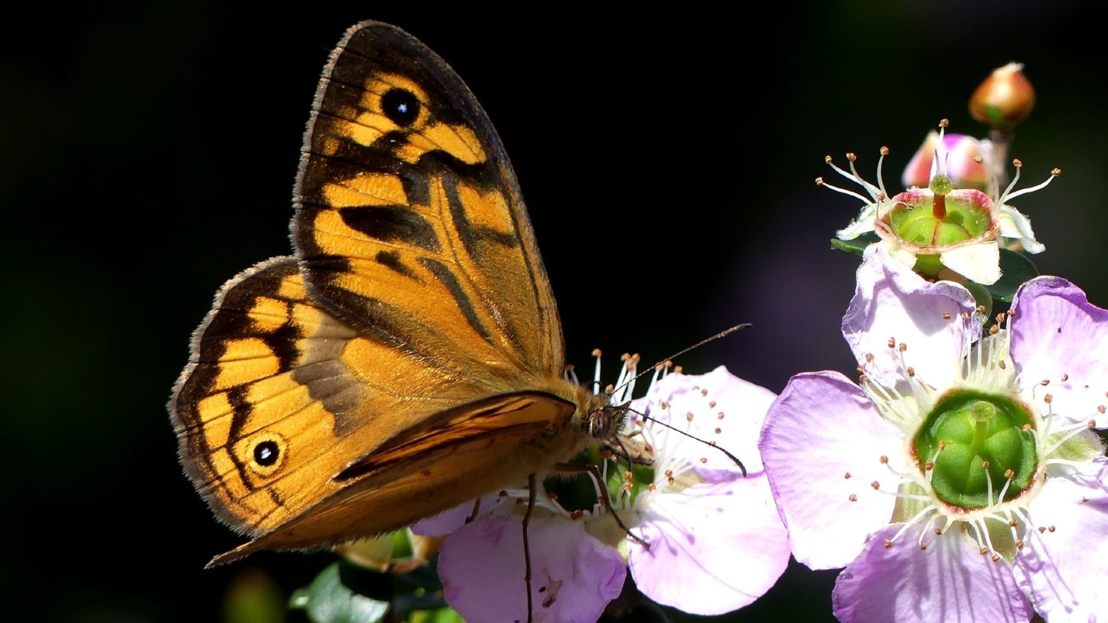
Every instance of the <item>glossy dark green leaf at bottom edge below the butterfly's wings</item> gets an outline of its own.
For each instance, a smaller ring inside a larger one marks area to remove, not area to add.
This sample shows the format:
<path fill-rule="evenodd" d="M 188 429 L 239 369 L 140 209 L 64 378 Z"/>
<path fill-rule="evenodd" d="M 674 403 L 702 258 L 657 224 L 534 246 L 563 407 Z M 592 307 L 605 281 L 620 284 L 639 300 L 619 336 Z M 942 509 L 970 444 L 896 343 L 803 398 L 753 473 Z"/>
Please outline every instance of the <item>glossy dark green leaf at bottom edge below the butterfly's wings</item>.
<path fill-rule="evenodd" d="M 314 623 L 378 623 L 389 612 L 389 602 L 362 594 L 358 573 L 349 563 L 336 562 L 307 589 L 293 593 L 289 607 L 305 610 Z"/>

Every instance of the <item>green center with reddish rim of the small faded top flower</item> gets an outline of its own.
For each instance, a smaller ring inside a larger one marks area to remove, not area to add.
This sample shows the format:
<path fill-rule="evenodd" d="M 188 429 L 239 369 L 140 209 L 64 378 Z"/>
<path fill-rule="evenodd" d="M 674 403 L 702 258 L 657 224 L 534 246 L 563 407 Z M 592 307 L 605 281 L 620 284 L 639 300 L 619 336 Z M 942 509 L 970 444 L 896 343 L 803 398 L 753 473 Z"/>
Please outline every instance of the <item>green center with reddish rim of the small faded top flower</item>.
<path fill-rule="evenodd" d="M 934 192 L 897 195 L 885 217 L 890 231 L 923 247 L 954 245 L 985 235 L 993 224 L 992 200 L 979 191 L 950 191 L 950 185 L 948 177 L 936 175 L 931 183 Z"/>

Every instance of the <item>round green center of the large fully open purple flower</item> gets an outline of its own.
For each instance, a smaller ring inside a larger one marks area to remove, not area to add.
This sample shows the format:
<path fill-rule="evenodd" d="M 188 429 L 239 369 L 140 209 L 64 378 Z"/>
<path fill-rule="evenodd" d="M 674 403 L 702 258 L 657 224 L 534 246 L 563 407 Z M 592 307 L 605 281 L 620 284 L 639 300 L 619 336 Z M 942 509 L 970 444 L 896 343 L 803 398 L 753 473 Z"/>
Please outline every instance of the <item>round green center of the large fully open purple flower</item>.
<path fill-rule="evenodd" d="M 915 456 L 924 473 L 933 470 L 931 486 L 938 499 L 981 509 L 1001 501 L 1009 480 L 1004 501 L 1030 487 L 1038 467 L 1032 427 L 1032 415 L 1023 405 L 1004 396 L 960 390 L 940 400 L 927 416 L 915 436 Z"/>

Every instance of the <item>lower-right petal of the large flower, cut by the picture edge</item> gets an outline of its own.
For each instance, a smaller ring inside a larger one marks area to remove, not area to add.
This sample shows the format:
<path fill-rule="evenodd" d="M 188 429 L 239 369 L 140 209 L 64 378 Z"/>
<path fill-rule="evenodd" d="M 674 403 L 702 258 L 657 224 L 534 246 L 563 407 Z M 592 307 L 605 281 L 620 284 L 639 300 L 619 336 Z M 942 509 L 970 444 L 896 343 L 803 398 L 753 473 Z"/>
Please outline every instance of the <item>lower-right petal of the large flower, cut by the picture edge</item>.
<path fill-rule="evenodd" d="M 1049 478 L 1032 500 L 1029 532 L 1015 576 L 1051 622 L 1096 621 L 1108 612 L 1108 459 Z"/>

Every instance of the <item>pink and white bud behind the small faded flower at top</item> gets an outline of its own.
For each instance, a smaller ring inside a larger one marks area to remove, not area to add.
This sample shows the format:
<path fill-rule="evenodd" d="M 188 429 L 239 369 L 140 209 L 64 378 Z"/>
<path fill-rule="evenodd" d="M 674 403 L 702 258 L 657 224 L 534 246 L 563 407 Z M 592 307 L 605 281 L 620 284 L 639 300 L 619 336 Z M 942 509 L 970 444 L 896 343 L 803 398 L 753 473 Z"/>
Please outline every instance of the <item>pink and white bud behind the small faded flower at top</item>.
<path fill-rule="evenodd" d="M 946 134 L 940 140 L 938 132 L 932 131 L 904 167 L 904 187 L 926 188 L 935 176 L 936 151 L 945 160 L 946 175 L 955 188 L 987 191 L 991 180 L 988 154 L 985 145 L 965 134 Z M 978 162 L 977 159 L 981 159 Z"/>

